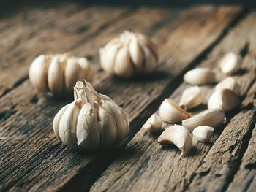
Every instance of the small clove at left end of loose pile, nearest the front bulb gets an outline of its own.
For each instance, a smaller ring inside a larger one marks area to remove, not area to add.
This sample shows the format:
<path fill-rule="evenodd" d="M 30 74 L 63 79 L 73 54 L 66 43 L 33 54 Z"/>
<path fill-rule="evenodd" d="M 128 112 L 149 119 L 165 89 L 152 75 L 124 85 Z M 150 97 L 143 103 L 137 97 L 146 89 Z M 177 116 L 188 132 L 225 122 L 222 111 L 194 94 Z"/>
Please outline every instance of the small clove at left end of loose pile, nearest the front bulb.
<path fill-rule="evenodd" d="M 157 114 L 151 115 L 151 117 L 143 125 L 142 129 L 146 133 L 155 133 L 162 128 L 162 120 Z"/>

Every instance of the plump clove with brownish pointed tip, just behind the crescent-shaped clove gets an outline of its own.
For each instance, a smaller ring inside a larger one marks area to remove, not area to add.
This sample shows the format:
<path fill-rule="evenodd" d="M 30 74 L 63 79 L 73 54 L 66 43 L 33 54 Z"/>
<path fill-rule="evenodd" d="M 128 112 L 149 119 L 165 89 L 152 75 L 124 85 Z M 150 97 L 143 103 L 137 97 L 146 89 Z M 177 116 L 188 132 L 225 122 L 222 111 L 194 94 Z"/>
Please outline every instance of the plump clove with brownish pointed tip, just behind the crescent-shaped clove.
<path fill-rule="evenodd" d="M 159 116 L 168 123 L 177 123 L 190 118 L 191 114 L 176 104 L 172 99 L 165 99 L 159 107 Z"/>

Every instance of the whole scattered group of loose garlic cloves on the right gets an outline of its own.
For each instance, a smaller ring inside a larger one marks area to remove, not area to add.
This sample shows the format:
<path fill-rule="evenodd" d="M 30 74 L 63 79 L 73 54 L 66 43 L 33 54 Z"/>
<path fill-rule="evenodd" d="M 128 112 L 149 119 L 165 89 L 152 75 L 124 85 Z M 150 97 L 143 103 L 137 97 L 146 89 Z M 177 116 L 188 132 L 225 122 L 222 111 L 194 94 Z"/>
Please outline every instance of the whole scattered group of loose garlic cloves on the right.
<path fill-rule="evenodd" d="M 240 65 L 241 58 L 235 53 L 227 53 L 219 62 L 219 68 L 225 75 L 237 72 Z M 189 155 L 195 141 L 209 142 L 214 135 L 214 129 L 225 122 L 225 112 L 241 104 L 240 86 L 233 77 L 226 77 L 219 82 L 211 96 L 206 98 L 199 85 L 212 84 L 216 81 L 213 69 L 206 67 L 192 69 L 184 74 L 184 82 L 193 86 L 183 91 L 178 104 L 173 99 L 165 99 L 159 107 L 159 116 L 152 115 L 143 126 L 143 130 L 146 133 L 164 130 L 158 138 L 159 145 L 176 145 L 181 150 L 181 158 Z M 208 110 L 197 115 L 187 111 L 203 104 L 205 99 L 208 99 Z M 163 128 L 162 121 L 170 126 Z"/>

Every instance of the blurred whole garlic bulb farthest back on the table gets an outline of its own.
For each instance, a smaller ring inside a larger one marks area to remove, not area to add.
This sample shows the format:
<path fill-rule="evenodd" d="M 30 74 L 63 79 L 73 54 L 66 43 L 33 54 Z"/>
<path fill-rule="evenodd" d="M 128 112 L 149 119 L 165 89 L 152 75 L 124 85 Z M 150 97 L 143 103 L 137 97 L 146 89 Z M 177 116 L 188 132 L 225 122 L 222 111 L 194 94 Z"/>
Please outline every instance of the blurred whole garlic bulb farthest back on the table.
<path fill-rule="evenodd" d="M 129 78 L 135 72 L 152 72 L 157 67 L 157 48 L 148 37 L 124 31 L 99 50 L 102 69 Z"/>

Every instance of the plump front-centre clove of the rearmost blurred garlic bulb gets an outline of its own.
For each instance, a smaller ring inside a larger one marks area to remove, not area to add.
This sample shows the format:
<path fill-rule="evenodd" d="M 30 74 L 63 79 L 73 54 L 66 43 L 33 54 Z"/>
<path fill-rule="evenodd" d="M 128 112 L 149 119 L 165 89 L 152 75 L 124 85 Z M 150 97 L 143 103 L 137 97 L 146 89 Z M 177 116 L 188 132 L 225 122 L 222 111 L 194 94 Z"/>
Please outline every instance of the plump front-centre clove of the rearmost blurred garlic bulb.
<path fill-rule="evenodd" d="M 114 65 L 114 72 L 120 77 L 132 77 L 134 69 L 131 63 L 131 58 L 129 58 L 129 50 L 127 47 L 121 47 L 121 49 L 118 50 Z"/>

